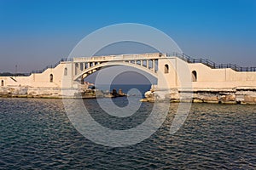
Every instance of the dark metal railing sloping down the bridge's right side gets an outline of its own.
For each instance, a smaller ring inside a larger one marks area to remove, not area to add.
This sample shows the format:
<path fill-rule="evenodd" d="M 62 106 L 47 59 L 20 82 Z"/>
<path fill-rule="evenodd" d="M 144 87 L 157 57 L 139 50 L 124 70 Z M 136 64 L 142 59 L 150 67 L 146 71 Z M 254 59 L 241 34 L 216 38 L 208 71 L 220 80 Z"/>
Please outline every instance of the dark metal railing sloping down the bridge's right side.
<path fill-rule="evenodd" d="M 171 54 L 166 54 L 166 56 L 167 57 L 175 56 L 175 57 L 178 57 L 179 59 L 183 59 L 188 63 L 201 63 L 211 67 L 212 69 L 230 68 L 234 71 L 256 71 L 256 67 L 241 67 L 240 65 L 234 65 L 234 64 L 217 64 L 210 59 L 195 59 L 190 57 L 187 54 L 171 53 Z"/>

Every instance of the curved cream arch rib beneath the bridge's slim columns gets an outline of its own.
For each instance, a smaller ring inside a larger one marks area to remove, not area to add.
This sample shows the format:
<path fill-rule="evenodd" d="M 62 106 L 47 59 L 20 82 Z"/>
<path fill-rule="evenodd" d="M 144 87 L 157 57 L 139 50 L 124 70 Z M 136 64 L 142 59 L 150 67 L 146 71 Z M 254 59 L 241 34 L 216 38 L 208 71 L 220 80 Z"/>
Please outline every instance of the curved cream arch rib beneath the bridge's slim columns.
<path fill-rule="evenodd" d="M 132 64 L 132 63 L 123 62 L 123 61 L 119 61 L 119 62 L 110 61 L 110 62 L 104 62 L 104 63 L 98 64 L 98 65 L 91 66 L 90 68 L 87 68 L 84 71 L 81 71 L 80 73 L 78 73 L 77 75 L 74 76 L 73 81 L 77 81 L 81 77 L 85 78 L 85 77 L 89 76 L 90 74 L 101 70 L 102 68 L 107 68 L 107 67 L 117 66 L 117 65 L 130 66 L 130 67 L 136 68 L 138 70 L 145 71 L 148 74 L 150 74 L 151 76 L 157 78 L 157 74 L 154 70 L 146 68 L 142 65 Z"/>

